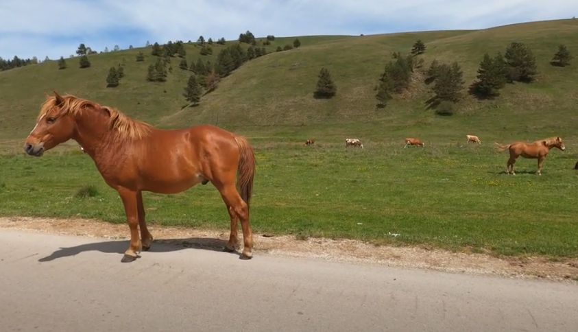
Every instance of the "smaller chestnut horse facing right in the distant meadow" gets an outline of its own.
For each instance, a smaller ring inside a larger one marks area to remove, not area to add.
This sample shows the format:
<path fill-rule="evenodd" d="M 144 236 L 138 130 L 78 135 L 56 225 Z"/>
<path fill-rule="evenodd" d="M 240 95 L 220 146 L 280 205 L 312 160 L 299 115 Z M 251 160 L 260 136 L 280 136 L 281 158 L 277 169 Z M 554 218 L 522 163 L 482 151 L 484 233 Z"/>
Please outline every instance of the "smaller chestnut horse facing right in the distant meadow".
<path fill-rule="evenodd" d="M 514 164 L 519 156 L 527 159 L 538 159 L 538 171 L 536 174 L 542 175 L 542 164 L 546 159 L 546 156 L 550 152 L 552 147 L 557 147 L 559 150 L 566 150 L 564 143 L 560 137 L 551 137 L 549 139 L 542 139 L 540 141 L 534 141 L 532 143 L 526 142 L 514 142 L 507 145 L 501 145 L 500 143 L 495 143 L 498 150 L 509 150 L 509 159 L 507 162 L 507 174 L 516 175 L 514 172 Z"/>

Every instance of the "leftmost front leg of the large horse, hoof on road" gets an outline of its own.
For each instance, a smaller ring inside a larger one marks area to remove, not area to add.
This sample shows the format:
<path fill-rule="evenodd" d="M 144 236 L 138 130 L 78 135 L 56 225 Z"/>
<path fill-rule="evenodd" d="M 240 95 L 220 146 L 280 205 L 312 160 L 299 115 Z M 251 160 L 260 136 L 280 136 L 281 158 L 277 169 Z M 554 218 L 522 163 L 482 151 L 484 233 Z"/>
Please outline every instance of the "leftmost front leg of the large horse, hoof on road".
<path fill-rule="evenodd" d="M 130 228 L 130 244 L 121 259 L 121 262 L 129 263 L 137 259 L 139 253 L 143 250 L 141 237 L 139 237 L 139 208 L 136 199 L 138 193 L 137 191 L 132 191 L 123 187 L 120 187 L 117 191 L 123 201 L 126 220 L 128 222 L 128 227 Z"/>

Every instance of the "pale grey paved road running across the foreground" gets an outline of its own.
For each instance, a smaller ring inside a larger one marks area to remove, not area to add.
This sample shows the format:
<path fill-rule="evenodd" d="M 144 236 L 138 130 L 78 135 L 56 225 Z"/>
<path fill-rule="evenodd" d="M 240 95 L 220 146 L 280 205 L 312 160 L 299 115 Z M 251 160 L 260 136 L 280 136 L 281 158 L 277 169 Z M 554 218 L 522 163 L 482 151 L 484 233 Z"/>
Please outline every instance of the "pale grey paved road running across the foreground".
<path fill-rule="evenodd" d="M 578 331 L 578 287 L 0 230 L 0 331 Z M 60 249 L 63 248 L 63 249 Z"/>

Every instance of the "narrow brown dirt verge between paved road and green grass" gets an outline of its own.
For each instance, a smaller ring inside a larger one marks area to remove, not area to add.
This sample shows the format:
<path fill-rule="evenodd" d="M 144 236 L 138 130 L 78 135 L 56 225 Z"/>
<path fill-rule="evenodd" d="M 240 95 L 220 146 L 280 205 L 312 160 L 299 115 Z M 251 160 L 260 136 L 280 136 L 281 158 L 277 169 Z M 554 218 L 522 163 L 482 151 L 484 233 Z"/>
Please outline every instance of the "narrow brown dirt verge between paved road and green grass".
<path fill-rule="evenodd" d="M 96 220 L 0 217 L 0 228 L 106 239 L 128 239 L 128 226 L 125 224 L 117 225 Z M 228 239 L 228 232 L 160 226 L 149 226 L 149 230 L 156 241 L 179 243 L 190 247 L 222 246 L 222 242 L 217 239 Z M 543 258 L 501 259 L 487 254 L 455 253 L 415 247 L 374 246 L 356 240 L 318 238 L 300 240 L 292 236 L 265 237 L 257 233 L 254 234 L 254 241 L 256 255 L 259 252 L 267 252 L 278 256 L 306 259 L 426 268 L 446 272 L 498 274 L 521 278 L 557 280 L 577 280 L 578 278 L 578 259 L 565 261 L 549 261 Z"/>

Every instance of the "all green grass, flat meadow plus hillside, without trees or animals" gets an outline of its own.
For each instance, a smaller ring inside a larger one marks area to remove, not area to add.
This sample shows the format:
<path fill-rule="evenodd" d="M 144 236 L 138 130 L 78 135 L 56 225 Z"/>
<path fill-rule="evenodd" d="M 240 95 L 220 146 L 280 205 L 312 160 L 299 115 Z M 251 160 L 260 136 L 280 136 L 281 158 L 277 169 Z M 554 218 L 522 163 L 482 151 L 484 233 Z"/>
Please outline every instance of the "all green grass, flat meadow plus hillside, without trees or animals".
<path fill-rule="evenodd" d="M 428 47 L 421 56 L 426 66 L 434 58 L 458 60 L 466 85 L 483 51 L 504 51 L 512 41 L 531 48 L 540 75 L 532 84 L 509 84 L 494 101 L 467 97 L 453 117 L 425 110 L 429 92 L 419 81 L 404 97 L 376 109 L 372 88 L 390 52 L 409 51 L 418 38 Z M 141 50 L 135 48 L 91 56 L 88 69 L 67 58 L 69 68 L 62 71 L 53 61 L 0 72 L 0 215 L 125 222 L 117 193 L 73 143 L 42 158 L 23 155 L 23 138 L 34 126 L 43 93 L 56 89 L 163 128 L 213 123 L 246 135 L 258 156 L 256 232 L 578 257 L 578 182 L 572 169 L 578 158 L 578 66 L 549 65 L 560 43 L 578 52 L 578 20 L 299 39 L 299 49 L 244 64 L 200 106 L 185 110 L 180 94 L 188 73 L 175 58 L 167 82 L 146 82 L 153 60 L 148 50 L 145 62 L 134 61 Z M 292 40 L 277 38 L 267 48 L 274 51 Z M 189 63 L 199 56 L 198 47 L 186 50 Z M 214 54 L 218 51 L 214 47 Z M 123 59 L 121 85 L 106 88 L 108 68 Z M 331 71 L 338 87 L 330 100 L 313 99 L 321 67 Z M 466 145 L 466 134 L 479 135 L 483 144 Z M 518 176 L 501 174 L 507 152 L 495 152 L 494 141 L 553 135 L 562 136 L 566 152 L 553 150 L 542 176 L 533 174 L 534 160 L 522 158 Z M 420 137 L 426 147 L 404 150 L 407 136 Z M 365 149 L 346 149 L 346 137 L 361 139 Z M 309 138 L 318 146 L 303 147 Z M 155 224 L 228 229 L 228 213 L 212 185 L 178 195 L 145 193 L 145 205 L 151 208 L 147 220 Z"/>

